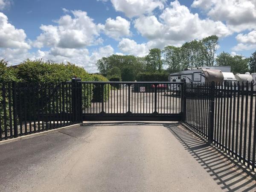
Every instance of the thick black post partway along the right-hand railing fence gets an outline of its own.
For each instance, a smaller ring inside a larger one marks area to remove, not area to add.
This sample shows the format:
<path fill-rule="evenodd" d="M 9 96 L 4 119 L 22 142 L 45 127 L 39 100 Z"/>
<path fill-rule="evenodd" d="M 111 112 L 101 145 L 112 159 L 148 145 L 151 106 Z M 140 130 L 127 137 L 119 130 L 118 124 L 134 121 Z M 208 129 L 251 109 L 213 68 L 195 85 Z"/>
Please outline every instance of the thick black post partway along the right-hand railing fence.
<path fill-rule="evenodd" d="M 209 87 L 209 125 L 208 125 L 208 143 L 213 142 L 213 131 L 214 131 L 214 100 L 215 100 L 215 82 L 212 81 Z"/>

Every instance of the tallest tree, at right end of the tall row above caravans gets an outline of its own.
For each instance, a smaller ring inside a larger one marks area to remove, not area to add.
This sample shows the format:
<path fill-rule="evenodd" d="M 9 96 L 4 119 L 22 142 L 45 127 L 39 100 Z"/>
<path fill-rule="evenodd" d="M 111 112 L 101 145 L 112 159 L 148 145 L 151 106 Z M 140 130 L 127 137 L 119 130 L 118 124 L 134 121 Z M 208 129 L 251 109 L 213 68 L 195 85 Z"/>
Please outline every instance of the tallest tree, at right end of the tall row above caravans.
<path fill-rule="evenodd" d="M 203 38 L 202 44 L 204 45 L 202 52 L 206 58 L 207 66 L 213 66 L 215 61 L 215 53 L 218 48 L 218 36 L 211 35 L 207 38 Z"/>

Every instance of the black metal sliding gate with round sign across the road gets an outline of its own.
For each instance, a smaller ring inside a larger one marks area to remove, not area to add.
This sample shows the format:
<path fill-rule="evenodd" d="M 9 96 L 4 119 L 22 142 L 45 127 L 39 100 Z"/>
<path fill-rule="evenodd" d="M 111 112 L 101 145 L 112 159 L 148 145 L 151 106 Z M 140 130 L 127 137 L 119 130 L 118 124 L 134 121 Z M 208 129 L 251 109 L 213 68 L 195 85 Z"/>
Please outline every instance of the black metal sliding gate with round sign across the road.
<path fill-rule="evenodd" d="M 77 82 L 84 121 L 180 121 L 183 82 Z"/>

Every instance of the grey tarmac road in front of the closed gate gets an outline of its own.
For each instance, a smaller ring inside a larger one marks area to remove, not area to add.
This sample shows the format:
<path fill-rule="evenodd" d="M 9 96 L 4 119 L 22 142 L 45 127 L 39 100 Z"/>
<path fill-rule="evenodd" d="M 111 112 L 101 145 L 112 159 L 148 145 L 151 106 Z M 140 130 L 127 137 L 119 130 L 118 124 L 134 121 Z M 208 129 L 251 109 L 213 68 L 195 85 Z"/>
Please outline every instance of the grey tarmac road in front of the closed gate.
<path fill-rule="evenodd" d="M 0 145 L 0 191 L 255 191 L 179 123 L 98 123 Z"/>

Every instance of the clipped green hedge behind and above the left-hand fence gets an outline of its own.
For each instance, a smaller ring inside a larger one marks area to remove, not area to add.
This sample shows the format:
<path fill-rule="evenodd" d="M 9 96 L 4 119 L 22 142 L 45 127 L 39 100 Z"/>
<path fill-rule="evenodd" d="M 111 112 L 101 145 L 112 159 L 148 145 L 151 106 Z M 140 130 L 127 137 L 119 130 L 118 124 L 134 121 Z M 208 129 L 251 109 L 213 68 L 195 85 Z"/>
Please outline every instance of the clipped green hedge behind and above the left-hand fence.
<path fill-rule="evenodd" d="M 0 60 L 0 118 L 3 119 L 3 97 L 2 97 L 2 83 L 3 81 L 21 81 L 21 82 L 32 82 L 38 84 L 44 83 L 54 83 L 61 86 L 61 82 L 63 81 L 70 81 L 73 77 L 79 77 L 82 81 L 108 81 L 105 77 L 101 75 L 90 75 L 87 73 L 83 67 L 78 67 L 75 64 L 71 63 L 55 63 L 50 61 L 43 61 L 43 60 L 26 60 L 21 64 L 17 65 L 16 67 L 7 67 L 8 62 L 5 60 Z M 58 93 L 60 95 L 61 88 L 55 91 L 55 95 Z M 108 95 L 105 88 L 106 95 Z M 83 108 L 90 107 L 91 102 L 93 100 L 93 92 L 95 92 L 95 87 L 91 87 L 88 89 L 82 90 L 83 95 Z M 20 93 L 23 98 L 23 93 Z M 29 95 L 29 94 L 26 94 Z M 89 98 L 87 98 L 89 96 Z M 64 98 L 66 98 L 66 92 L 64 92 Z M 39 99 L 41 99 L 41 95 L 39 95 Z M 97 100 L 97 98 L 94 98 Z M 35 102 L 37 99 L 35 99 Z M 26 99 L 29 101 L 29 99 Z M 7 110 L 8 110 L 8 98 L 6 98 Z M 23 103 L 23 105 L 28 105 L 27 103 Z M 67 103 L 67 107 L 70 108 L 69 103 Z M 37 106 L 37 105 L 35 105 Z M 31 111 L 28 110 L 27 107 L 27 115 L 30 114 Z M 45 110 L 48 110 L 47 108 Z M 56 109 L 55 109 L 56 110 Z M 35 109 L 37 111 L 37 109 Z M 47 111 L 44 111 L 47 113 Z M 7 120 L 9 121 L 9 113 L 7 111 Z M 18 119 L 22 118 L 19 116 Z M 13 122 L 12 122 L 13 123 Z M 9 125 L 7 125 L 9 127 Z M 3 123 L 1 124 L 1 128 L 3 129 Z"/>

